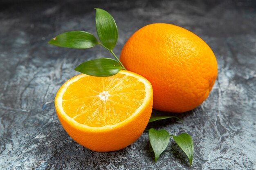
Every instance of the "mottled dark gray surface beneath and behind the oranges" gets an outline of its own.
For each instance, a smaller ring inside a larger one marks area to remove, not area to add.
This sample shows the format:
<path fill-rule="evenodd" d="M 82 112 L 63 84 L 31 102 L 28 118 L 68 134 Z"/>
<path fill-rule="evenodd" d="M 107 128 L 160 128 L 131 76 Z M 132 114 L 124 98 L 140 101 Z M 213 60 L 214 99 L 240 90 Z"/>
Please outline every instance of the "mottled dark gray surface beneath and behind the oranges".
<path fill-rule="evenodd" d="M 256 169 L 256 2 L 135 1 L 0 2 L 0 169 L 252 170 Z M 119 28 L 117 55 L 137 29 L 155 22 L 182 26 L 216 54 L 218 78 L 207 100 L 148 128 L 188 132 L 193 166 L 172 142 L 154 163 L 146 132 L 116 152 L 92 152 L 74 142 L 54 108 L 58 88 L 78 74 L 75 66 L 111 57 L 102 47 L 63 49 L 47 44 L 59 33 L 96 35 L 93 7 L 108 10 Z M 43 107 L 44 106 L 44 107 Z"/>

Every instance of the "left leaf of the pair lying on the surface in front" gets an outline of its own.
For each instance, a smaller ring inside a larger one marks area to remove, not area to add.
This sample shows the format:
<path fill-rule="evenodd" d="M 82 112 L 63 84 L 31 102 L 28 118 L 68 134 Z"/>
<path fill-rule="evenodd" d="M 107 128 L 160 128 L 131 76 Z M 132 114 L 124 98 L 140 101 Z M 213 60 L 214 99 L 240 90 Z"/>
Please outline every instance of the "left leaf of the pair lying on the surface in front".
<path fill-rule="evenodd" d="M 149 142 L 155 153 L 155 162 L 160 154 L 164 152 L 170 141 L 170 135 L 166 130 L 155 130 L 153 128 L 148 131 Z"/>

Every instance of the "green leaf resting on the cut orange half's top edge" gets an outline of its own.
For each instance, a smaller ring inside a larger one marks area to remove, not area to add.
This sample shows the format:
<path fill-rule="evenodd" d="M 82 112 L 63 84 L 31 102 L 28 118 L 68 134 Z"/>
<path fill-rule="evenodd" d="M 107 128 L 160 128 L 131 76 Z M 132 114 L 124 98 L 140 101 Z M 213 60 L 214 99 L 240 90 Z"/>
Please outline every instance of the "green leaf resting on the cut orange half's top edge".
<path fill-rule="evenodd" d="M 97 77 L 106 77 L 117 74 L 121 69 L 120 64 L 116 60 L 98 58 L 80 64 L 75 68 L 75 71 Z"/>

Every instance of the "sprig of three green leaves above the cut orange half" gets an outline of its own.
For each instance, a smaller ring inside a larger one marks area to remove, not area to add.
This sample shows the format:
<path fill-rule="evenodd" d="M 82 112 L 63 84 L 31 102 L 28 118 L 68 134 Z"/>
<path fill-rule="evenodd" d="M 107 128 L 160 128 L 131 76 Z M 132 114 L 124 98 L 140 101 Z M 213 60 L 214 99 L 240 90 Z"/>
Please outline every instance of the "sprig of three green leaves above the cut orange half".
<path fill-rule="evenodd" d="M 110 13 L 103 9 L 95 9 L 96 30 L 100 41 L 98 41 L 97 38 L 91 33 L 85 31 L 70 31 L 57 35 L 48 43 L 72 49 L 88 49 L 96 45 L 103 46 L 105 49 L 110 51 L 112 55 L 114 55 L 116 60 L 111 58 L 98 58 L 90 60 L 77 66 L 75 71 L 97 77 L 115 75 L 121 69 L 126 70 L 112 51 L 118 38 L 117 24 Z"/>

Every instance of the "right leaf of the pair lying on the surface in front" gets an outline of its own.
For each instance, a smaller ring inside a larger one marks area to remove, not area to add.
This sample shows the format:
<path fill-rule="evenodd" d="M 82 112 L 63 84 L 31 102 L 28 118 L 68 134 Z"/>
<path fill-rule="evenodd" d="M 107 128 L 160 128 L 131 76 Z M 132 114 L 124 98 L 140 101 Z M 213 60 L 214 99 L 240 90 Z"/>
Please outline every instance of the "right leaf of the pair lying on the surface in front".
<path fill-rule="evenodd" d="M 177 145 L 183 150 L 189 159 L 190 166 L 192 165 L 194 144 L 192 138 L 187 133 L 182 133 L 178 136 L 172 135 Z"/>

